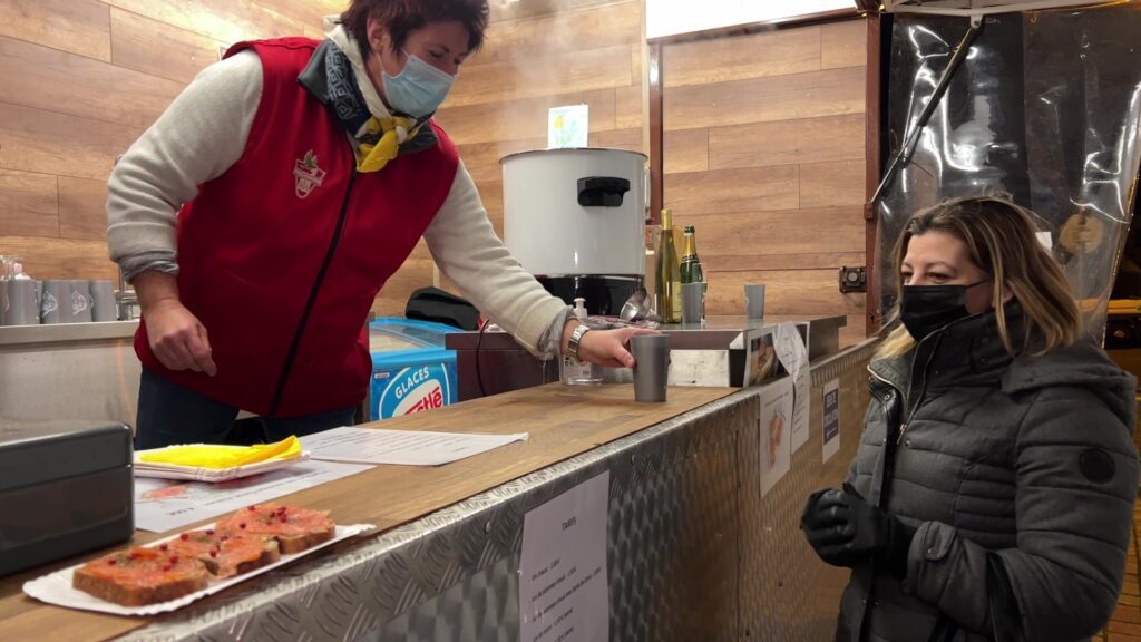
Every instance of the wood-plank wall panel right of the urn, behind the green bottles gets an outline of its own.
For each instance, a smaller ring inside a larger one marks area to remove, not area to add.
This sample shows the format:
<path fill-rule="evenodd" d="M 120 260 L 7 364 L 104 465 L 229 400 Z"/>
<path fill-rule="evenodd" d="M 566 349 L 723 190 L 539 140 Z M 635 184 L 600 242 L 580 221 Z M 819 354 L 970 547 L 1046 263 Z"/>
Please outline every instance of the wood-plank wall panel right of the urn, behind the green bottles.
<path fill-rule="evenodd" d="M 851 19 L 663 47 L 664 202 L 694 225 L 710 314 L 847 314 L 864 295 L 837 270 L 864 265 L 865 24 Z"/>

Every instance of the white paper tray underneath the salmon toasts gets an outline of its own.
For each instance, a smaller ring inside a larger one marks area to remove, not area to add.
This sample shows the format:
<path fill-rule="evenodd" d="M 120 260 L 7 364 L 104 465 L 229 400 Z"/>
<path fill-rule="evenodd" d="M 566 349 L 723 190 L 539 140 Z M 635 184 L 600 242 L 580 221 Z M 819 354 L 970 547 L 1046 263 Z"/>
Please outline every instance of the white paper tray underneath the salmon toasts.
<path fill-rule="evenodd" d="M 210 524 L 213 525 L 213 524 Z M 203 527 L 209 528 L 209 527 Z M 46 575 L 43 577 L 35 578 L 30 581 L 24 583 L 24 593 L 30 597 L 35 597 L 41 602 L 47 602 L 48 604 L 55 604 L 57 607 L 67 607 L 68 609 L 82 609 L 84 611 L 98 611 L 100 613 L 112 613 L 116 616 L 154 616 L 159 613 L 165 613 L 168 611 L 173 611 L 175 609 L 180 609 L 191 602 L 195 602 L 205 597 L 207 595 L 213 595 L 219 591 L 233 586 L 240 581 L 245 581 L 251 577 L 257 577 L 264 572 L 272 571 L 277 567 L 288 564 L 298 557 L 302 557 L 313 553 L 314 551 L 319 551 L 326 546 L 332 546 L 342 539 L 348 539 L 355 535 L 362 532 L 367 532 L 377 528 L 373 524 L 353 524 L 353 525 L 338 525 L 337 536 L 329 541 L 324 541 L 310 548 L 306 548 L 300 553 L 293 553 L 292 555 L 282 555 L 281 560 L 266 564 L 259 569 L 254 569 L 250 572 L 242 573 L 236 577 L 226 578 L 220 581 L 211 581 L 209 586 L 199 591 L 197 593 L 191 593 L 189 595 L 184 595 L 177 600 L 170 600 L 167 602 L 160 602 L 157 604 L 147 604 L 145 607 L 122 607 L 115 604 L 114 602 L 107 602 L 99 600 L 95 595 L 84 593 L 78 588 L 72 587 L 72 572 L 82 567 L 83 564 L 75 564 L 74 567 L 68 567 L 66 569 L 60 569 L 54 573 Z M 161 539 L 148 544 L 153 546 L 155 544 L 161 544 L 168 539 L 173 539 L 178 537 L 177 535 Z"/>

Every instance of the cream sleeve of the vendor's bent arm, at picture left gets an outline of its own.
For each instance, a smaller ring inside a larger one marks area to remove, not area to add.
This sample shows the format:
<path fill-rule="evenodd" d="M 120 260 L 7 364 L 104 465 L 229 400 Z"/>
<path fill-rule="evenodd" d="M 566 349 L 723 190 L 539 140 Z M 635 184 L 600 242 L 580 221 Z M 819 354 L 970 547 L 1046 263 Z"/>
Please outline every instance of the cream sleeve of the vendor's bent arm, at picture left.
<path fill-rule="evenodd" d="M 128 280 L 144 270 L 177 271 L 178 210 L 242 157 L 260 99 L 256 53 L 210 65 L 115 164 L 107 249 Z"/>

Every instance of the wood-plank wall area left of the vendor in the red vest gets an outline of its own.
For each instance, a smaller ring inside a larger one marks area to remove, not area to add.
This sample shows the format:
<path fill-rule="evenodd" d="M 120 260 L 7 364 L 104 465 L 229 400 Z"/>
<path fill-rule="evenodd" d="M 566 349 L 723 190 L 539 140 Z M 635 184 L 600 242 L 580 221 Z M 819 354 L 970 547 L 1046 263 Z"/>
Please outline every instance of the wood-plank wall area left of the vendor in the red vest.
<path fill-rule="evenodd" d="M 114 279 L 116 155 L 220 48 L 319 35 L 347 0 L 0 1 L 0 254 L 40 279 Z"/>

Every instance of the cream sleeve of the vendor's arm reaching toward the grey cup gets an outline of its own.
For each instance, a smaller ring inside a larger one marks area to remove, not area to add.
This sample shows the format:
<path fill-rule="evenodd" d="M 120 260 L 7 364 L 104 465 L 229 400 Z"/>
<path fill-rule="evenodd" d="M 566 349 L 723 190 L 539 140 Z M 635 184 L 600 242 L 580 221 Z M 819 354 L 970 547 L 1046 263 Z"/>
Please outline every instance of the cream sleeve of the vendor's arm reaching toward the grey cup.
<path fill-rule="evenodd" d="M 503 247 L 463 163 L 424 240 L 440 272 L 463 296 L 531 353 L 549 356 L 543 338 L 555 324 L 563 328 L 566 304 L 548 294 Z"/>

